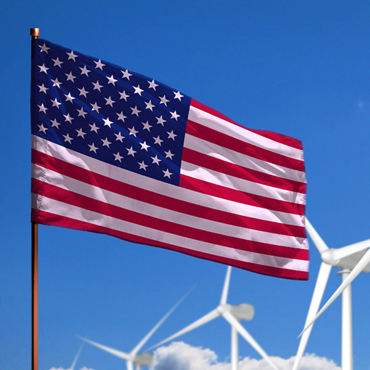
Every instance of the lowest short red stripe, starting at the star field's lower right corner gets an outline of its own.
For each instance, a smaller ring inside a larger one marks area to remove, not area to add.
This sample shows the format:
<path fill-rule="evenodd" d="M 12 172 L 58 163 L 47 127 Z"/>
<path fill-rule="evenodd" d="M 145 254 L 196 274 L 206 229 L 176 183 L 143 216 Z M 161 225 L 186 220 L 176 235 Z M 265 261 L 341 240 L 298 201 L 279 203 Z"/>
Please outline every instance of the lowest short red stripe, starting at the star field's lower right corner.
<path fill-rule="evenodd" d="M 187 175 L 180 174 L 180 184 L 182 188 L 193 190 L 199 193 L 217 196 L 218 198 L 228 199 L 229 201 L 248 204 L 273 211 L 292 213 L 294 215 L 305 214 L 305 205 L 279 201 L 267 198 L 262 195 L 250 194 L 244 191 L 226 188 L 226 186 L 212 184 Z"/>

